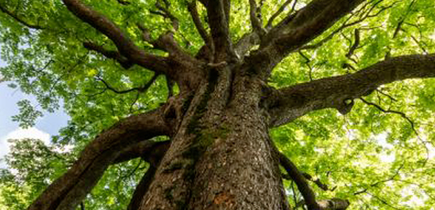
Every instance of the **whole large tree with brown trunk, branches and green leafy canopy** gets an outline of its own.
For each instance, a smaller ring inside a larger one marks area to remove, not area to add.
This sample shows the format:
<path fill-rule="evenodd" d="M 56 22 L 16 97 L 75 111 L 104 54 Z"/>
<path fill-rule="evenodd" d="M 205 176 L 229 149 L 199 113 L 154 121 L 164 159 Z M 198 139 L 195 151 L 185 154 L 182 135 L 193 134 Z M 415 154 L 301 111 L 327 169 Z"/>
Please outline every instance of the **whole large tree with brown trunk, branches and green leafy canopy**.
<path fill-rule="evenodd" d="M 28 209 L 123 208 L 86 196 L 135 158 L 128 209 L 434 204 L 433 1 L 0 2 L 4 78 L 72 116 Z"/>

